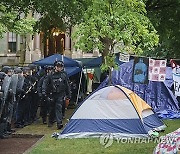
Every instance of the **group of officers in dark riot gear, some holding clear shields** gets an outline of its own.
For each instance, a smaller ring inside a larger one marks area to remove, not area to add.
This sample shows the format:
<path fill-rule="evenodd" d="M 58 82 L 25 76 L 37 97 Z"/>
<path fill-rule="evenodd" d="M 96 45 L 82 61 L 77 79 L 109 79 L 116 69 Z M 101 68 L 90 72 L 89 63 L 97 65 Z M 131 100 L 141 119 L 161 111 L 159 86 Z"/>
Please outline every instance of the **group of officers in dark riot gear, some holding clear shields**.
<path fill-rule="evenodd" d="M 64 63 L 56 61 L 54 66 L 45 66 L 44 75 L 37 73 L 37 66 L 15 68 L 3 67 L 0 72 L 0 138 L 6 138 L 15 128 L 23 128 L 40 116 L 43 124 L 57 129 L 63 127 L 65 102 L 71 98 L 69 79 Z"/>

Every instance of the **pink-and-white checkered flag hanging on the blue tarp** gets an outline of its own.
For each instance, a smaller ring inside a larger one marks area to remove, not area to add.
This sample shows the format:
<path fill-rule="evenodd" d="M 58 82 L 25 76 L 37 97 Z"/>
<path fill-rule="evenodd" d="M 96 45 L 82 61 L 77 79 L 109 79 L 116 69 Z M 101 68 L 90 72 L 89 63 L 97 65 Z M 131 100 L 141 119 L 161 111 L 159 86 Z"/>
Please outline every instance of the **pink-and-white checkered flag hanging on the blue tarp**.
<path fill-rule="evenodd" d="M 149 80 L 163 82 L 166 78 L 166 60 L 149 59 Z"/>

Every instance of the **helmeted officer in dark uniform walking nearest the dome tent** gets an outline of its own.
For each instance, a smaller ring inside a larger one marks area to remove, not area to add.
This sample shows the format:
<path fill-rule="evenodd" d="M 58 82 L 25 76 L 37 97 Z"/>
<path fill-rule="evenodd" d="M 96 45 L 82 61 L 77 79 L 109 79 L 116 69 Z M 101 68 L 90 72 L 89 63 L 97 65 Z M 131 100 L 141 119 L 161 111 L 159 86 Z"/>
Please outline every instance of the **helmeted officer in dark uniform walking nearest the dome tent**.
<path fill-rule="evenodd" d="M 65 104 L 65 99 L 70 99 L 70 85 L 66 72 L 64 71 L 64 63 L 62 61 L 56 61 L 54 63 L 55 70 L 52 74 L 48 75 L 42 85 L 42 93 L 46 97 L 48 89 L 52 92 L 52 103 L 49 113 L 49 124 L 53 124 L 53 108 L 55 107 L 55 115 L 57 128 L 61 129 L 62 124 L 62 108 Z M 54 107 L 53 107 L 54 106 Z"/>

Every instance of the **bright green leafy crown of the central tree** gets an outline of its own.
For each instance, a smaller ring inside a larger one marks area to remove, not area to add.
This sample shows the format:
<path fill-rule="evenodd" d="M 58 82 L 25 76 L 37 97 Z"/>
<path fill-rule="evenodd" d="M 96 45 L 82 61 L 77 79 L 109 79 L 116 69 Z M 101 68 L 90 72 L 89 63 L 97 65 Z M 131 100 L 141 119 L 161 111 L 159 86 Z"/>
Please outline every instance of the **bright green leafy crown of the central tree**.
<path fill-rule="evenodd" d="M 157 31 L 146 16 L 145 4 L 136 0 L 92 0 L 78 25 L 77 48 L 100 49 L 106 56 L 121 43 L 121 52 L 142 54 L 158 44 Z"/>

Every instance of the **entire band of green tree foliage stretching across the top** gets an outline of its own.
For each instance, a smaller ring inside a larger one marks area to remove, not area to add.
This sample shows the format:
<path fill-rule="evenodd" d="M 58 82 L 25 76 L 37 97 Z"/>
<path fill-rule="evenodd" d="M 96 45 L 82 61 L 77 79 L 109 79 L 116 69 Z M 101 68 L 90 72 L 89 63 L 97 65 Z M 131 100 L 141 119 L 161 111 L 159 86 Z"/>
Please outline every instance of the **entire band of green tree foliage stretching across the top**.
<path fill-rule="evenodd" d="M 29 11 L 40 14 L 36 24 L 26 18 Z M 83 51 L 99 48 L 106 55 L 120 43 L 121 50 L 136 54 L 180 57 L 180 0 L 1 0 L 0 14 L 0 35 L 78 24 Z"/>

